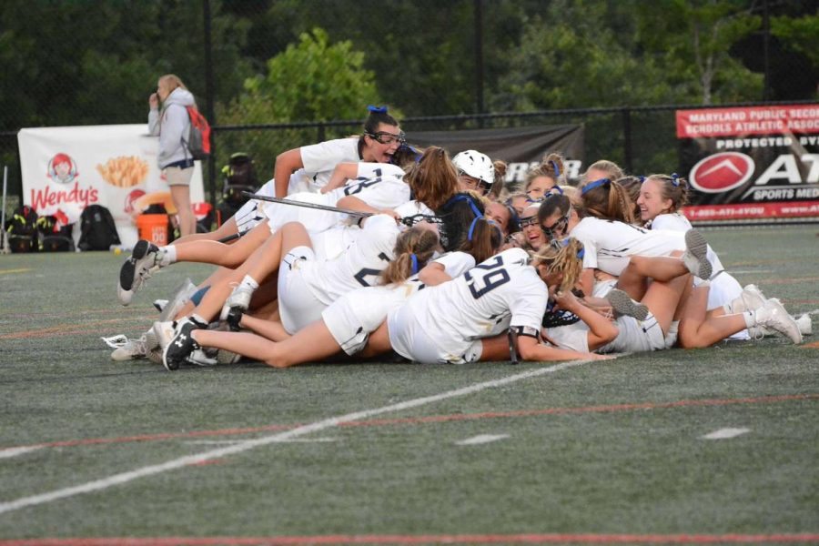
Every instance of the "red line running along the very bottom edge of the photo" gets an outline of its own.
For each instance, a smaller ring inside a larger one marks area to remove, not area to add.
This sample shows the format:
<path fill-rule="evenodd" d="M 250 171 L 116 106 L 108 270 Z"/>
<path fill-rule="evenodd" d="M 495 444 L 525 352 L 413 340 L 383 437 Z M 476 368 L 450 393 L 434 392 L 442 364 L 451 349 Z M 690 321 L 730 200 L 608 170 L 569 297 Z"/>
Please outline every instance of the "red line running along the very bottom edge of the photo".
<path fill-rule="evenodd" d="M 0 540 L 0 546 L 281 546 L 302 544 L 493 544 L 493 543 L 578 543 L 578 544 L 752 544 L 760 542 L 816 542 L 815 533 L 779 534 L 426 534 L 426 535 L 306 535 L 281 537 L 152 537 L 152 538 L 73 538 Z"/>

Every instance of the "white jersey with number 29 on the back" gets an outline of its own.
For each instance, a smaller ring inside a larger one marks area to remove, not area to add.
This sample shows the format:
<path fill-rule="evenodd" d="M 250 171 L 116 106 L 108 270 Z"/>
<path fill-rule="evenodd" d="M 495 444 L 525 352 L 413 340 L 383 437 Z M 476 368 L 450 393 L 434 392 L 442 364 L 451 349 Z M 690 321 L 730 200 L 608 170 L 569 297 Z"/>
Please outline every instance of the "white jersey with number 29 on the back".
<path fill-rule="evenodd" d="M 493 335 L 507 319 L 512 327 L 540 331 L 548 298 L 529 254 L 510 248 L 459 278 L 420 290 L 405 306 L 443 352 L 462 355 L 472 340 Z"/>

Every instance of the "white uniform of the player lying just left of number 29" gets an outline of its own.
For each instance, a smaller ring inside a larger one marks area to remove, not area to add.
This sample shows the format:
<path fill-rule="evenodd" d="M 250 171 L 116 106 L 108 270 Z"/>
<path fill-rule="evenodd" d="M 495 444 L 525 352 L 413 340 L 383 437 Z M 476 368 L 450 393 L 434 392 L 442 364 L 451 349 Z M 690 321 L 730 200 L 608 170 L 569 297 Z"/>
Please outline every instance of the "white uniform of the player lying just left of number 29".
<path fill-rule="evenodd" d="M 475 258 L 466 252 L 450 252 L 432 261 L 443 265 L 444 272 L 451 278 L 475 266 Z M 353 354 L 363 349 L 369 333 L 379 328 L 389 311 L 399 308 L 422 288 L 426 286 L 418 274 L 397 284 L 358 288 L 334 301 L 322 311 L 321 317 L 342 349 Z"/>

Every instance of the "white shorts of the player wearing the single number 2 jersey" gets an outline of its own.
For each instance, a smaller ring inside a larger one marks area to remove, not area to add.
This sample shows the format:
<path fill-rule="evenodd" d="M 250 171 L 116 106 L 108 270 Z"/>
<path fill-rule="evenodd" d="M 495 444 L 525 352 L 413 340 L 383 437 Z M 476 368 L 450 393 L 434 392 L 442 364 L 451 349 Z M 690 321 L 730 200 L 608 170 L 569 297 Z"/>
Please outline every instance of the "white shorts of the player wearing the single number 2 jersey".
<path fill-rule="evenodd" d="M 315 259 L 312 248 L 296 247 L 282 258 L 278 266 L 278 312 L 288 334 L 295 334 L 309 323 L 321 319 L 321 311 L 327 307 L 313 295 L 304 276 L 299 273 L 300 267 Z"/>

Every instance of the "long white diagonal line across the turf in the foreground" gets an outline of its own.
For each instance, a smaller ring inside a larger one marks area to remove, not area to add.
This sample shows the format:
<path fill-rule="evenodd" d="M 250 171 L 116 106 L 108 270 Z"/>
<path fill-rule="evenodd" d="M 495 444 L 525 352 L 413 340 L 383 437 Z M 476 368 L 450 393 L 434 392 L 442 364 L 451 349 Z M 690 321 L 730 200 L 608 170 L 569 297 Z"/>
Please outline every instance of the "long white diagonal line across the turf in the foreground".
<path fill-rule="evenodd" d="M 531 371 L 515 374 L 506 378 L 485 381 L 483 383 L 478 383 L 462 389 L 448 390 L 447 392 L 442 392 L 440 394 L 435 394 L 420 399 L 411 399 L 405 402 L 399 402 L 397 404 L 390 404 L 389 406 L 383 406 L 374 410 L 354 411 L 352 413 L 339 415 L 337 417 L 330 417 L 325 420 L 319 420 L 308 425 L 297 427 L 296 429 L 286 430 L 284 432 L 279 432 L 278 434 L 273 434 L 271 436 L 257 438 L 254 440 L 245 440 L 232 446 L 225 446 L 224 448 L 205 451 L 203 453 L 199 453 L 198 455 L 187 455 L 185 457 L 179 457 L 178 459 L 168 460 L 167 462 L 163 462 L 161 464 L 153 464 L 135 470 L 114 474 L 113 476 L 108 476 L 107 478 L 102 478 L 100 480 L 88 481 L 73 487 L 53 490 L 46 493 L 41 493 L 39 495 L 32 495 L 30 497 L 22 497 L 15 501 L 2 502 L 0 503 L 0 514 L 20 510 L 21 508 L 28 506 L 37 506 L 39 504 L 45 504 L 46 502 L 66 499 L 82 493 L 106 490 L 110 487 L 114 487 L 115 485 L 122 485 L 129 481 L 138 480 L 139 478 L 147 478 L 148 476 L 154 476 L 162 472 L 167 472 L 168 470 L 185 468 L 188 465 L 195 465 L 206 460 L 219 459 L 227 457 L 228 455 L 235 455 L 237 453 L 253 450 L 261 446 L 280 442 L 282 440 L 290 440 L 300 436 L 305 436 L 306 434 L 318 432 L 319 430 L 327 430 L 338 426 L 339 423 L 369 419 L 373 416 L 392 411 L 409 410 L 410 408 L 417 408 L 419 406 L 424 406 L 440 400 L 466 396 L 475 392 L 480 392 L 481 390 L 501 387 L 502 385 L 508 385 L 522 379 L 530 379 L 547 373 L 561 371 L 562 369 L 581 366 L 582 364 L 587 364 L 589 362 L 591 362 L 591 360 L 573 360 L 571 362 L 562 362 L 561 364 L 555 364 L 554 366 L 549 366 L 547 368 L 532 369 Z"/>

